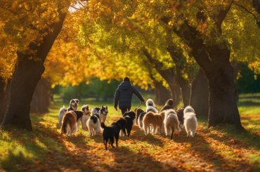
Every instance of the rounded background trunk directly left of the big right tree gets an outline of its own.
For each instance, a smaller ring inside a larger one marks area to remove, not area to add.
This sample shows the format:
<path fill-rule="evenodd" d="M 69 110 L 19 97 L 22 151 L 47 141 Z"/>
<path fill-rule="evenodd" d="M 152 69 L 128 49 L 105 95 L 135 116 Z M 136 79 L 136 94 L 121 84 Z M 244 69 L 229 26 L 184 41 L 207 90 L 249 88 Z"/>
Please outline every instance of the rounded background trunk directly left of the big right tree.
<path fill-rule="evenodd" d="M 209 83 L 204 72 L 200 69 L 193 79 L 190 93 L 190 105 L 201 117 L 209 115 Z"/>

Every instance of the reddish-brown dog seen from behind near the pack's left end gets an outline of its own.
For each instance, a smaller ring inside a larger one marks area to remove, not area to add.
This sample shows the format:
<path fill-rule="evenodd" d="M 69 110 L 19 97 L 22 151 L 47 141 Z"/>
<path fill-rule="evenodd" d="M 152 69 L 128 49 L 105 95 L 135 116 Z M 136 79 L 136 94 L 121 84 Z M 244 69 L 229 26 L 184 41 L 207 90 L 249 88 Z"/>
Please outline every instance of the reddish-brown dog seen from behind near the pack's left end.
<path fill-rule="evenodd" d="M 63 135 L 64 133 L 66 133 L 67 136 L 74 135 L 79 129 L 77 121 L 79 121 L 83 115 L 85 115 L 85 112 L 79 110 L 65 112 L 60 127 L 60 135 Z"/>

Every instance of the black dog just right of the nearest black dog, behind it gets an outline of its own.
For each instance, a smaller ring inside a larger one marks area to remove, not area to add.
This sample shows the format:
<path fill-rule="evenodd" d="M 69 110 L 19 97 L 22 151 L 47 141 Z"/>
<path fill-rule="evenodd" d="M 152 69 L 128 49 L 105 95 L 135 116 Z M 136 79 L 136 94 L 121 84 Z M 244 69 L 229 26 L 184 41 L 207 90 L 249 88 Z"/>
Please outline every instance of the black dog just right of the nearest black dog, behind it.
<path fill-rule="evenodd" d="M 127 132 L 127 136 L 129 137 L 131 130 L 132 130 L 132 127 L 133 127 L 133 124 L 134 124 L 134 121 L 136 121 L 136 113 L 133 112 L 133 111 L 125 112 L 123 114 L 123 117 L 119 120 L 125 121 L 125 126 L 124 126 L 124 124 L 122 124 L 120 136 L 126 135 L 126 132 Z M 122 123 L 123 123 L 123 121 L 122 121 Z M 125 131 L 125 129 L 126 129 L 126 131 Z"/>

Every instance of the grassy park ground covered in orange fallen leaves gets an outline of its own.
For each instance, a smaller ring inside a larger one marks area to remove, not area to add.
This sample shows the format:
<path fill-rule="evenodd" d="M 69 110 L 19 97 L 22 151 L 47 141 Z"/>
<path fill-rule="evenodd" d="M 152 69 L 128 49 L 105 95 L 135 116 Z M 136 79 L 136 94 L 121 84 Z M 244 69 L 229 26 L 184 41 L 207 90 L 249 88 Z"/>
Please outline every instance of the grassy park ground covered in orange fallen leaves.
<path fill-rule="evenodd" d="M 0 171 L 259 171 L 260 100 L 249 98 L 254 102 L 249 105 L 247 99 L 240 100 L 245 133 L 228 125 L 207 128 L 207 121 L 199 119 L 195 138 L 182 131 L 170 140 L 164 135 L 145 136 L 134 126 L 129 138 L 120 138 L 119 147 L 108 151 L 101 134 L 90 137 L 80 130 L 72 138 L 60 136 L 60 104 L 56 104 L 48 114 L 32 115 L 33 132 L 0 131 Z M 110 124 L 120 114 L 112 104 L 106 105 Z"/>

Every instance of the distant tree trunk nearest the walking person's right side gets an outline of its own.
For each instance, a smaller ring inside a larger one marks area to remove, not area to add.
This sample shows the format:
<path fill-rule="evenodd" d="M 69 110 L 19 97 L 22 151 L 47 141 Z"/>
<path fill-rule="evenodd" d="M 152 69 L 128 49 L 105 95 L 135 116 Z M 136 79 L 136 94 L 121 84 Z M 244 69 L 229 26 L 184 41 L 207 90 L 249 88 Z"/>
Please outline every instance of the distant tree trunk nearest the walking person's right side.
<path fill-rule="evenodd" d="M 162 85 L 162 82 L 154 81 L 155 84 L 155 102 L 158 105 L 164 105 L 164 103 L 171 98 L 171 92 Z"/>

